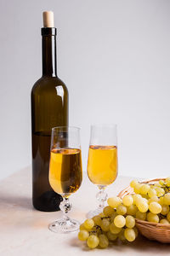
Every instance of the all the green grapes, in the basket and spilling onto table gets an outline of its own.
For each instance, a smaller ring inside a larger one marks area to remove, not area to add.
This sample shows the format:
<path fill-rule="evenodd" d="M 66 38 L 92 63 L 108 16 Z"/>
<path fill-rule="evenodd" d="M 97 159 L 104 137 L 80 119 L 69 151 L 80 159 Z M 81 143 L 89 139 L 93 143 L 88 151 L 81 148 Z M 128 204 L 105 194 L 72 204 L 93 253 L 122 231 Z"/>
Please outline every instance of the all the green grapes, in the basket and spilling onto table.
<path fill-rule="evenodd" d="M 130 186 L 132 195 L 109 198 L 103 212 L 80 225 L 80 241 L 86 241 L 90 248 L 105 248 L 117 239 L 134 241 L 138 236 L 135 218 L 170 224 L 170 177 L 154 184 L 133 180 Z"/>

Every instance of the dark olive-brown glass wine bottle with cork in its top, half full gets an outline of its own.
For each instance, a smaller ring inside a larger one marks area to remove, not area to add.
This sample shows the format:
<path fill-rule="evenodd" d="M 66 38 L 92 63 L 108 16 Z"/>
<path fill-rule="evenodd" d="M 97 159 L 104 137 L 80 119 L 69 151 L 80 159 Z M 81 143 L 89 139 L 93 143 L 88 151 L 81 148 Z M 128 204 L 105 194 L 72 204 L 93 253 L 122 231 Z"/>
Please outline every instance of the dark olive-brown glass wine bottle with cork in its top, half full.
<path fill-rule="evenodd" d="M 68 90 L 56 69 L 53 12 L 43 12 L 42 78 L 31 90 L 32 204 L 37 210 L 59 210 L 61 196 L 48 181 L 51 129 L 68 125 Z"/>

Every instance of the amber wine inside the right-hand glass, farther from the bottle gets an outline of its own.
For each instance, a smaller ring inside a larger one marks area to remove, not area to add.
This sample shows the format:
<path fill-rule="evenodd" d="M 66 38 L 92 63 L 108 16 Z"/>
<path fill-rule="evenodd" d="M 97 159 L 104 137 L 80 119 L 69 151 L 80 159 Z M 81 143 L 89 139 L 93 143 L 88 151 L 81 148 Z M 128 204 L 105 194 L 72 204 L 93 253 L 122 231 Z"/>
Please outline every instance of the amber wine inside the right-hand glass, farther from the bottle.
<path fill-rule="evenodd" d="M 90 146 L 88 151 L 88 177 L 97 185 L 109 185 L 117 176 L 116 146 Z"/>

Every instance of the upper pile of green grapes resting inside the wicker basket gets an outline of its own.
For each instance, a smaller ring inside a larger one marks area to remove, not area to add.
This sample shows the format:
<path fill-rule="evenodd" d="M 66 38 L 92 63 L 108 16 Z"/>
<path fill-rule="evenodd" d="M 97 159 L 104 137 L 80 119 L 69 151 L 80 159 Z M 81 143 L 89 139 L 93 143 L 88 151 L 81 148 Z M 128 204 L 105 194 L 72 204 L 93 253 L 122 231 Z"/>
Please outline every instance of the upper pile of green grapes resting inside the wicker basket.
<path fill-rule="evenodd" d="M 133 205 L 138 208 L 135 218 L 170 224 L 170 177 L 154 184 L 144 184 L 133 180 L 130 186 L 134 190 Z"/>

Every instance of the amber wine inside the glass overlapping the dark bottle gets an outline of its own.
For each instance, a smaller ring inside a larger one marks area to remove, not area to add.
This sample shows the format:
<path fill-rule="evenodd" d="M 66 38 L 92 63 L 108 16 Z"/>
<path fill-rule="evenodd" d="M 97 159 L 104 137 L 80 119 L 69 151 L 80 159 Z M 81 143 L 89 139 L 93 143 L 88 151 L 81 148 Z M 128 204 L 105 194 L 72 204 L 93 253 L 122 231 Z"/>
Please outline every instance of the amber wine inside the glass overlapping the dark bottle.
<path fill-rule="evenodd" d="M 56 193 L 69 196 L 82 183 L 82 156 L 77 148 L 52 149 L 49 162 L 49 183 Z"/>

